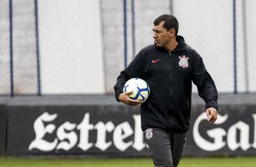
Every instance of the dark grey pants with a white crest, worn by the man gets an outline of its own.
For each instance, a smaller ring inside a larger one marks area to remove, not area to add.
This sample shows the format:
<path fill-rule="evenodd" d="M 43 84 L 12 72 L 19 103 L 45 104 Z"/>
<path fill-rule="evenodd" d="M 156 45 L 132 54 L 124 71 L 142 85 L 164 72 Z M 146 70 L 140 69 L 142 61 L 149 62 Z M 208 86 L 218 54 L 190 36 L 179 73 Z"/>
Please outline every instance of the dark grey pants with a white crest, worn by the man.
<path fill-rule="evenodd" d="M 181 157 L 186 133 L 168 133 L 160 129 L 144 131 L 146 142 L 153 156 L 155 167 L 177 167 Z"/>

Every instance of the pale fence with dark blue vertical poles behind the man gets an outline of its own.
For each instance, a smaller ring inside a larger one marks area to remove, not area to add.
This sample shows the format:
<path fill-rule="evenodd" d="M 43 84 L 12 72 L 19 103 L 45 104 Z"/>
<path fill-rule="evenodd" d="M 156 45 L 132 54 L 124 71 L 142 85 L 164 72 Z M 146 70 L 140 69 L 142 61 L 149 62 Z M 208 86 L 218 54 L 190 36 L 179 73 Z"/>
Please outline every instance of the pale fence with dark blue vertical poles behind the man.
<path fill-rule="evenodd" d="M 146 2 L 146 3 L 145 3 Z M 153 20 L 176 15 L 220 93 L 255 93 L 253 0 L 0 0 L 0 94 L 113 93 Z M 193 89 L 196 92 L 196 89 Z"/>

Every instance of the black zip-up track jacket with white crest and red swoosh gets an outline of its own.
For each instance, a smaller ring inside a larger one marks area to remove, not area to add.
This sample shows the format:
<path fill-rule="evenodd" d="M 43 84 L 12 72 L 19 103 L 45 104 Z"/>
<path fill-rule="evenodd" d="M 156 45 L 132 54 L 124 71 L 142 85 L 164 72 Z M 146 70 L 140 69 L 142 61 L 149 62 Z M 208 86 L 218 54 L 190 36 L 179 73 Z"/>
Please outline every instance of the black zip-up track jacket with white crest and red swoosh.
<path fill-rule="evenodd" d="M 160 128 L 172 133 L 185 133 L 190 127 L 192 82 L 206 103 L 206 108 L 218 109 L 218 93 L 202 57 L 182 36 L 169 53 L 154 44 L 144 47 L 125 68 L 113 86 L 117 101 L 124 83 L 134 77 L 145 80 L 150 96 L 141 105 L 142 130 Z"/>

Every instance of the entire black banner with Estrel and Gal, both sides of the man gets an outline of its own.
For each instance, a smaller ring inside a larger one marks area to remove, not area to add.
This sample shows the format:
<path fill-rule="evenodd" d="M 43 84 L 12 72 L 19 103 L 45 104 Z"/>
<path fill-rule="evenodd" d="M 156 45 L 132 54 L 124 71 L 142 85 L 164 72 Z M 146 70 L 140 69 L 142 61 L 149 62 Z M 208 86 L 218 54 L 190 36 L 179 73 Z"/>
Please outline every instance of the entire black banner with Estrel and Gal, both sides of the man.
<path fill-rule="evenodd" d="M 183 155 L 255 155 L 256 105 L 222 105 L 216 123 L 192 107 Z M 8 106 L 7 154 L 150 155 L 139 107 L 126 105 Z"/>

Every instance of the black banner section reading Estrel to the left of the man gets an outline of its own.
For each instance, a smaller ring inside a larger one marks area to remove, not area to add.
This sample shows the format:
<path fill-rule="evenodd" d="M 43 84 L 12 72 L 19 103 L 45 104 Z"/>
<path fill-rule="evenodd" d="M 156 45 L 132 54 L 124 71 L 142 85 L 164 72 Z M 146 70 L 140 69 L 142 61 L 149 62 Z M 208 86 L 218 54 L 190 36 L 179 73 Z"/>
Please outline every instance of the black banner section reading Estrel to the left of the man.
<path fill-rule="evenodd" d="M 10 106 L 8 154 L 146 154 L 138 107 Z"/>

